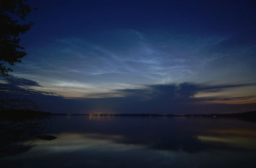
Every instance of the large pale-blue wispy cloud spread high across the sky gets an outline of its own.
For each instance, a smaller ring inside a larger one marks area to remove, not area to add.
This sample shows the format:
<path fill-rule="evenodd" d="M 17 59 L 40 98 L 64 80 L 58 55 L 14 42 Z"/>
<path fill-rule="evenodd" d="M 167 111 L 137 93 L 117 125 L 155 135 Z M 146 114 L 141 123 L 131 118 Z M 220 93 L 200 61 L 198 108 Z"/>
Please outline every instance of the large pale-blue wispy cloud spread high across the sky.
<path fill-rule="evenodd" d="M 251 66 L 255 59 L 249 59 L 254 53 L 253 41 L 237 44 L 239 51 L 235 49 L 237 45 L 230 44 L 230 53 L 220 53 L 222 45 L 232 42 L 231 35 L 160 32 L 109 31 L 95 36 L 94 42 L 77 37 L 55 39 L 51 44 L 31 48 L 23 63 L 16 65 L 15 75 L 63 95 L 68 87 L 64 83 L 73 83 L 73 88 L 76 83 L 93 86 L 91 91 L 86 89 L 92 95 L 95 88 L 105 92 L 122 85 L 133 88 L 145 84 L 253 79 Z M 238 64 L 231 64 L 233 61 Z M 84 93 L 81 87 L 70 90 L 74 91 Z"/>

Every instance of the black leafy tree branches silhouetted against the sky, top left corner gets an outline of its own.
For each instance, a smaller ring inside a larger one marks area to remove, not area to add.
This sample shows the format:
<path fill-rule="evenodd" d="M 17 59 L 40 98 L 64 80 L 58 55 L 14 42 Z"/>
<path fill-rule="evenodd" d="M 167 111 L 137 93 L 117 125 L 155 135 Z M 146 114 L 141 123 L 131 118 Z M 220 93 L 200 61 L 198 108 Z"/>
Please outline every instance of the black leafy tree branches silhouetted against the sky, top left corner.
<path fill-rule="evenodd" d="M 3 75 L 12 72 L 11 68 L 5 66 L 15 65 L 22 62 L 22 58 L 27 55 L 24 47 L 19 46 L 20 34 L 26 33 L 33 22 L 24 22 L 25 17 L 36 8 L 31 8 L 25 4 L 26 0 L 0 0 L 0 70 Z"/>

